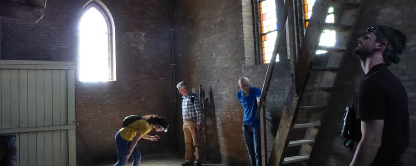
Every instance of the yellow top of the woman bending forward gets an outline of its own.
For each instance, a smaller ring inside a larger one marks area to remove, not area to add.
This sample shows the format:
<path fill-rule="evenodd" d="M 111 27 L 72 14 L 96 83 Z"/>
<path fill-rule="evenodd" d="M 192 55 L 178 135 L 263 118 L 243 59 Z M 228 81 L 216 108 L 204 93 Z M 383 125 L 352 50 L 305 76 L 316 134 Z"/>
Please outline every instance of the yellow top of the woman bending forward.
<path fill-rule="evenodd" d="M 130 125 L 120 129 L 120 135 L 127 141 L 133 141 L 134 137 L 139 134 L 144 136 L 152 130 L 152 126 L 144 119 L 132 122 Z"/>

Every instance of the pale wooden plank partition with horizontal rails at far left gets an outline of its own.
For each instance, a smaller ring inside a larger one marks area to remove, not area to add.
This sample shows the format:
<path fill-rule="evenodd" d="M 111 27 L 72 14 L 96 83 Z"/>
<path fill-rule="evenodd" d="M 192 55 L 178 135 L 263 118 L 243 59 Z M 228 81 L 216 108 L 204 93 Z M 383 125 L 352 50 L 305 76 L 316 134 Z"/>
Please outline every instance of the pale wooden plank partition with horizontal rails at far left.
<path fill-rule="evenodd" d="M 72 62 L 22 62 L 0 61 L 0 134 L 16 135 L 20 166 L 75 166 Z"/>

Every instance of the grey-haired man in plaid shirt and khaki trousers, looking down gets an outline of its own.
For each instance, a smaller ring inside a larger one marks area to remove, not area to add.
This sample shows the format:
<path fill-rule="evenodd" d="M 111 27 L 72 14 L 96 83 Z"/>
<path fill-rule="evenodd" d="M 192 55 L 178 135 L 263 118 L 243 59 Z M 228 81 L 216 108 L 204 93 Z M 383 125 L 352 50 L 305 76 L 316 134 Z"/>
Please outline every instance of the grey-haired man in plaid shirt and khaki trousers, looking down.
<path fill-rule="evenodd" d="M 197 131 L 201 130 L 202 110 L 197 94 L 189 91 L 185 82 L 178 83 L 176 87 L 182 96 L 183 134 L 185 136 L 185 163 L 182 166 L 194 166 L 193 154 L 195 149 L 195 166 L 201 166 L 199 142 Z"/>

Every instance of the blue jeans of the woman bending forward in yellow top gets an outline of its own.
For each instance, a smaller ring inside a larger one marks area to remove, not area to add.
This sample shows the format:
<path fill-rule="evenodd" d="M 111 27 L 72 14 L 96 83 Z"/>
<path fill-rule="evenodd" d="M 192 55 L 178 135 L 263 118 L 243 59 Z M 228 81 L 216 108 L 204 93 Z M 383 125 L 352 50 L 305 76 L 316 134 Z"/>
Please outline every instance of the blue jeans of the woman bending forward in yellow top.
<path fill-rule="evenodd" d="M 127 141 L 123 139 L 120 135 L 120 131 L 117 132 L 116 137 L 116 146 L 117 146 L 117 163 L 114 166 L 124 166 L 127 164 L 123 162 L 123 158 L 127 156 L 127 153 L 129 153 L 129 148 L 131 141 Z M 142 158 L 142 155 L 140 153 L 139 146 L 136 145 L 134 147 L 133 152 L 131 153 L 130 158 L 133 158 L 133 165 L 132 166 L 140 166 L 140 160 Z"/>

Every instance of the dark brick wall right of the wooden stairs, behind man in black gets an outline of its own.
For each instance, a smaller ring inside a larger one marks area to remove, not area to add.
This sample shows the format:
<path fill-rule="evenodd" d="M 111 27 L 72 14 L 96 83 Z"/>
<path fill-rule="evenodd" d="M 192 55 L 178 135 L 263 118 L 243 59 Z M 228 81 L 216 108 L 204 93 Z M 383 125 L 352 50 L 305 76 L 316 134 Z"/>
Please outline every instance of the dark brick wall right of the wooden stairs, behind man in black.
<path fill-rule="evenodd" d="M 406 34 L 406 49 L 398 64 L 390 65 L 390 70 L 403 83 L 409 98 L 410 146 L 402 157 L 404 166 L 413 166 L 416 162 L 416 98 L 415 98 L 415 64 L 416 58 L 416 23 L 412 12 L 416 1 L 412 0 L 364 0 L 355 35 L 350 43 L 349 54 L 344 57 L 335 83 L 334 94 L 329 101 L 328 114 L 314 145 L 311 166 L 347 166 L 351 153 L 342 147 L 341 120 L 345 106 L 351 106 L 358 84 L 364 77 L 358 57 L 352 54 L 357 45 L 356 39 L 364 35 L 370 25 L 387 25 Z"/>

